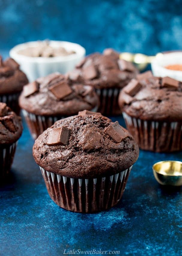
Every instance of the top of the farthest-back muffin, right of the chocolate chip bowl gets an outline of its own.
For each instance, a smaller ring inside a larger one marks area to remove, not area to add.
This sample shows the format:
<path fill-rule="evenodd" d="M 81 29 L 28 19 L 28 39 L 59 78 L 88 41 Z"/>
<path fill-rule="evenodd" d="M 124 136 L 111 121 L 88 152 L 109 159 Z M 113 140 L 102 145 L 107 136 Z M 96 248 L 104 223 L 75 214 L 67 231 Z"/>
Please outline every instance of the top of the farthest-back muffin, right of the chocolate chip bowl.
<path fill-rule="evenodd" d="M 137 73 L 131 62 L 120 59 L 114 50 L 105 49 L 103 54 L 93 53 L 85 57 L 68 75 L 77 83 L 103 89 L 123 88 Z"/>

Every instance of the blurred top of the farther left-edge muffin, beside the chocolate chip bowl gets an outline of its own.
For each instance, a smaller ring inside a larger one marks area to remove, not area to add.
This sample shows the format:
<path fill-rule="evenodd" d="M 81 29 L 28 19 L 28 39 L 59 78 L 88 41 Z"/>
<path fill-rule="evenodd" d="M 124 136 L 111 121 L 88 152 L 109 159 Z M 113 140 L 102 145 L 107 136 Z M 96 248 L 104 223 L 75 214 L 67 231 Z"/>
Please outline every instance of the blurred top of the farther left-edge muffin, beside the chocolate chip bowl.
<path fill-rule="evenodd" d="M 19 64 L 12 58 L 5 61 L 0 56 L 0 95 L 21 92 L 28 83 L 26 75 L 19 70 Z"/>

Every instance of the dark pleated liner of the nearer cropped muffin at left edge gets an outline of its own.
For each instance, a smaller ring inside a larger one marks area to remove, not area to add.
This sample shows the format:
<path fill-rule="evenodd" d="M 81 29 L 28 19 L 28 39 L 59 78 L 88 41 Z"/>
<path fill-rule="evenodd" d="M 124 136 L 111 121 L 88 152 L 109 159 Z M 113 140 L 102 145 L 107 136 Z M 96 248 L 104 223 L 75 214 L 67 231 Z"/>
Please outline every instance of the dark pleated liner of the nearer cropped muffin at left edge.
<path fill-rule="evenodd" d="M 0 182 L 10 172 L 17 143 L 18 142 L 15 142 L 11 145 L 0 146 Z"/>

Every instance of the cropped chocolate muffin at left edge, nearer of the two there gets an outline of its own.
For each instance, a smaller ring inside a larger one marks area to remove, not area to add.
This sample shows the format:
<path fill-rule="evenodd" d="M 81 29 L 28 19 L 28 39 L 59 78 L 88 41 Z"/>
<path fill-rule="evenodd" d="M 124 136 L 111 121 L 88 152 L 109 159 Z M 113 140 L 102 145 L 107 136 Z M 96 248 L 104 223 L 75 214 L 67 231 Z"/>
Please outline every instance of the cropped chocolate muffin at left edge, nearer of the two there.
<path fill-rule="evenodd" d="M 22 134 L 21 117 L 0 102 L 0 182 L 9 173 L 16 144 Z"/>

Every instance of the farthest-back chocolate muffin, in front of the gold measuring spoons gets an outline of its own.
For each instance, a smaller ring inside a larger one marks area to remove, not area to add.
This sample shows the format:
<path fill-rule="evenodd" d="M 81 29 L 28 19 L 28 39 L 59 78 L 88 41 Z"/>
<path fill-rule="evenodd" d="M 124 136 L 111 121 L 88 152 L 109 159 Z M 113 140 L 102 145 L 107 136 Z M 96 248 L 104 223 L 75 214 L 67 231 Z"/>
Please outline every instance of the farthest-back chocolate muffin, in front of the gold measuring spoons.
<path fill-rule="evenodd" d="M 121 114 L 118 95 L 138 73 L 136 67 L 119 58 L 119 53 L 105 49 L 103 54 L 93 53 L 84 58 L 68 75 L 76 83 L 91 85 L 100 98 L 100 111 L 105 115 Z"/>

